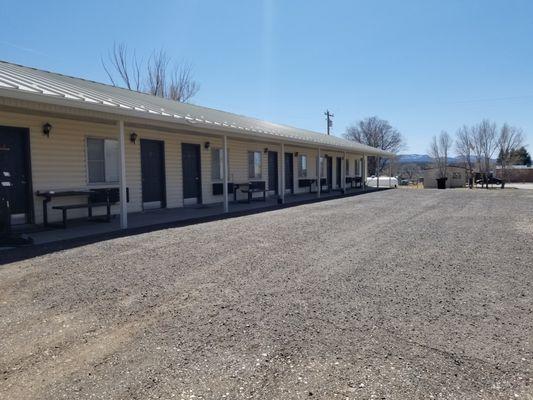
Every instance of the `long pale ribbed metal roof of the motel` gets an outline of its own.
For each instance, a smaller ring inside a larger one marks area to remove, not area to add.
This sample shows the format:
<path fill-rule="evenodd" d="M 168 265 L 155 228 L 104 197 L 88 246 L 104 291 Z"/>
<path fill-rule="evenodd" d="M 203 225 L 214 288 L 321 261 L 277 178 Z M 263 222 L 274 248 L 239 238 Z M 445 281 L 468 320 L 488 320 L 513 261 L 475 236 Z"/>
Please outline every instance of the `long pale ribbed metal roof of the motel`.
<path fill-rule="evenodd" d="M 27 99 L 150 120 L 193 124 L 206 131 L 248 134 L 286 143 L 339 148 L 368 155 L 392 156 L 336 136 L 274 124 L 212 108 L 0 61 L 0 97 Z"/>

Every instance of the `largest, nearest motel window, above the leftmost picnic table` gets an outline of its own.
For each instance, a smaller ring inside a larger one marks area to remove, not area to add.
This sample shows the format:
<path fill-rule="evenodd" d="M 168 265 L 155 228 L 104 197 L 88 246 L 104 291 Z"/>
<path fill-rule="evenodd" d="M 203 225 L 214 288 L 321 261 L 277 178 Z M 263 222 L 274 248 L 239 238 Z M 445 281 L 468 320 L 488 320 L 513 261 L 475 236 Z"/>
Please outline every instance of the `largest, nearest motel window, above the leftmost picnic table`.
<path fill-rule="evenodd" d="M 118 182 L 118 141 L 87 138 L 89 183 Z"/>

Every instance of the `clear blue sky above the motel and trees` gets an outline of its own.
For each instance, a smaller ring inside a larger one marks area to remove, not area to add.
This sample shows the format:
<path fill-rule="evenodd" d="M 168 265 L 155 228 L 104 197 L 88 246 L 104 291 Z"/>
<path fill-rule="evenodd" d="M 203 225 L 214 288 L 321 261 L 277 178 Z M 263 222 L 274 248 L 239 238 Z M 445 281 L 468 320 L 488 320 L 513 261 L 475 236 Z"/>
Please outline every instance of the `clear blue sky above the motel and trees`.
<path fill-rule="evenodd" d="M 113 42 L 164 48 L 193 102 L 333 133 L 378 115 L 424 153 L 490 118 L 533 145 L 533 2 L 0 0 L 0 59 L 107 82 Z M 531 150 L 531 146 L 529 147 Z"/>

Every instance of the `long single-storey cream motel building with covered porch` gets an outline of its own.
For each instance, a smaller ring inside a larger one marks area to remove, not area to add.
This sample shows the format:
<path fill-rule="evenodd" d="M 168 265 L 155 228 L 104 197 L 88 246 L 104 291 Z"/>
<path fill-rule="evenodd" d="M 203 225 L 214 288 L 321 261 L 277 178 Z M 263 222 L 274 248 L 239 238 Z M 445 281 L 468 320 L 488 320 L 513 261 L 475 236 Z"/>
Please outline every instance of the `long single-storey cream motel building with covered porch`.
<path fill-rule="evenodd" d="M 368 156 L 392 154 L 0 62 L 2 193 L 36 242 L 355 194 Z"/>

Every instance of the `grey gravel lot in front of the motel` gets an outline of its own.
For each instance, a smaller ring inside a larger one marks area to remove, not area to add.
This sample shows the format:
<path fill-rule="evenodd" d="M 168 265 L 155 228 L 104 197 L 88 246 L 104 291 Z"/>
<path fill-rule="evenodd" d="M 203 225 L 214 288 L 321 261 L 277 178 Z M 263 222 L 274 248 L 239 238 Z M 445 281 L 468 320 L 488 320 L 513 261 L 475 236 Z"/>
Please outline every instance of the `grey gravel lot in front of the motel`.
<path fill-rule="evenodd" d="M 532 399 L 533 191 L 391 190 L 0 267 L 1 399 Z"/>

